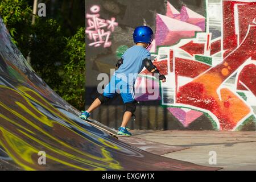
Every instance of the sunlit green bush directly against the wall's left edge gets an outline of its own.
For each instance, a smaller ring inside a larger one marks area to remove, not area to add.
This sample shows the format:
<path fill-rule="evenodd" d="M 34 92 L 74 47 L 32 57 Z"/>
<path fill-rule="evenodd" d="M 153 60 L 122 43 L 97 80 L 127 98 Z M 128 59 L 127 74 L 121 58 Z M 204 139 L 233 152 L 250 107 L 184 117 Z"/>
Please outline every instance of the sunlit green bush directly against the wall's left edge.
<path fill-rule="evenodd" d="M 71 105 L 83 109 L 85 105 L 85 28 L 67 39 L 65 56 L 69 62 L 64 67 L 63 87 L 60 94 Z"/>

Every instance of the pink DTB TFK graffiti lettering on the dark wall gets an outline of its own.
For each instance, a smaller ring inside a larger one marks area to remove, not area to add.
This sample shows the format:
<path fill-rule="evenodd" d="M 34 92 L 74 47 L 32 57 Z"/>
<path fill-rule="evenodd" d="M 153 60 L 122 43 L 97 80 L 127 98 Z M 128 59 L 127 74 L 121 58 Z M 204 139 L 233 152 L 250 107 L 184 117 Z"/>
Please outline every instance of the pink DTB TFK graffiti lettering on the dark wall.
<path fill-rule="evenodd" d="M 90 8 L 92 14 L 86 14 L 87 27 L 85 34 L 92 40 L 89 46 L 100 47 L 102 44 L 104 48 L 110 47 L 112 42 L 109 40 L 111 33 L 118 26 L 115 18 L 102 19 L 100 18 L 100 6 L 94 5 Z"/>

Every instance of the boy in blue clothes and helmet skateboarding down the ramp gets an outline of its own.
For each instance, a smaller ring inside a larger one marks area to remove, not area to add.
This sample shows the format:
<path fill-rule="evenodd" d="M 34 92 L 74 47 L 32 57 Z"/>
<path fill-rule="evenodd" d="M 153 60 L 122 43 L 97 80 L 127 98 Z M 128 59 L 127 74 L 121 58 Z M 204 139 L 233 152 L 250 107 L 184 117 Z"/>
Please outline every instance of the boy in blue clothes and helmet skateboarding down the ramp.
<path fill-rule="evenodd" d="M 135 28 L 133 39 L 136 45 L 127 49 L 122 55 L 122 59 L 118 60 L 116 64 L 118 69 L 114 72 L 109 84 L 106 85 L 104 93 L 94 100 L 93 104 L 86 111 L 82 112 L 80 115 L 81 119 L 87 119 L 94 109 L 108 102 L 110 98 L 113 98 L 119 92 L 126 109 L 123 114 L 122 125 L 118 129 L 118 135 L 131 136 L 131 133 L 126 129 L 126 125 L 136 109 L 134 84 L 138 74 L 142 71 L 143 67 L 146 67 L 149 72 L 158 74 L 159 80 L 162 80 L 162 82 L 166 81 L 166 77 L 160 75 L 158 69 L 152 64 L 150 52 L 147 51 L 147 47 L 150 46 L 153 38 L 154 33 L 150 27 L 139 26 Z"/>

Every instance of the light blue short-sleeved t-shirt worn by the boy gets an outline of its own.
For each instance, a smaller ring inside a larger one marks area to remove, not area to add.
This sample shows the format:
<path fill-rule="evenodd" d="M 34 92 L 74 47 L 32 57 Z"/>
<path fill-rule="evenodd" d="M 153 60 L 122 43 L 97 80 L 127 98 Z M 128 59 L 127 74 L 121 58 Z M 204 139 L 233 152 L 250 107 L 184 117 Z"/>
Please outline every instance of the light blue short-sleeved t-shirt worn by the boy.
<path fill-rule="evenodd" d="M 134 84 L 144 67 L 143 60 L 146 58 L 150 58 L 150 52 L 147 49 L 142 46 L 130 47 L 123 53 L 123 64 L 115 71 L 115 76 L 129 84 Z"/>

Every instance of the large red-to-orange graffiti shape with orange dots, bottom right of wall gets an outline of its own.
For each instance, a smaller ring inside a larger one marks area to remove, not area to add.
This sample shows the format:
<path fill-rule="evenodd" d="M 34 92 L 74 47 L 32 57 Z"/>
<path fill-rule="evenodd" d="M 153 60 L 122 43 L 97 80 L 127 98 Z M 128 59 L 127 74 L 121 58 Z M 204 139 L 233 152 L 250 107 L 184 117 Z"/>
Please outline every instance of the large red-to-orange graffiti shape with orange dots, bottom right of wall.
<path fill-rule="evenodd" d="M 220 96 L 217 93 L 222 82 L 256 53 L 256 25 L 251 24 L 248 31 L 242 43 L 226 56 L 221 64 L 209 69 L 189 84 L 181 86 L 177 94 L 176 101 L 179 103 L 212 111 L 218 118 L 222 130 L 233 129 L 250 111 L 249 107 L 229 89 L 221 89 Z"/>

